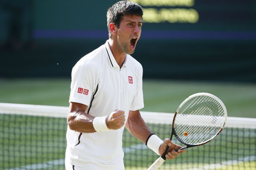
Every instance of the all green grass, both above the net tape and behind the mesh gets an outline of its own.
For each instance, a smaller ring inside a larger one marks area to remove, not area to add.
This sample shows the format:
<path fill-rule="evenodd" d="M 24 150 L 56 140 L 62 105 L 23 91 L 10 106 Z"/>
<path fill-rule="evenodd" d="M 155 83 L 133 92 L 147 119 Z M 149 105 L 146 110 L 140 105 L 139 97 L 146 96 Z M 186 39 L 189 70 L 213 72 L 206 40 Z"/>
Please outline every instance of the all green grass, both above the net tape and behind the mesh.
<path fill-rule="evenodd" d="M 0 102 L 68 106 L 70 83 L 70 79 L 0 79 Z M 218 96 L 224 102 L 229 116 L 256 118 L 255 84 L 145 79 L 143 90 L 145 107 L 142 111 L 175 112 L 180 103 L 189 95 L 208 92 Z M 0 126 L 0 143 L 2 143 L 0 145 L 0 160 L 2 160 L 0 170 L 64 159 L 67 127 L 65 118 L 17 116 L 0 114 L 0 124 L 2 124 Z M 162 139 L 170 133 L 169 127 L 159 128 L 159 126 L 150 124 L 149 127 Z M 204 162 L 230 160 L 235 160 L 235 162 L 218 170 L 256 169 L 255 161 L 237 164 L 236 160 L 254 156 L 256 151 L 255 130 L 247 129 L 247 133 L 242 132 L 239 129 L 226 128 L 216 140 L 201 147 L 187 149 L 186 154 L 174 161 L 166 161 L 160 169 L 190 169 Z M 244 137 L 240 137 L 241 135 Z M 124 147 L 142 144 L 127 130 L 124 131 L 123 136 Z M 178 142 L 175 139 L 173 141 Z M 156 158 L 158 156 L 150 149 L 142 149 L 125 154 L 124 162 L 127 170 L 146 170 Z M 64 165 L 55 165 L 41 170 L 49 168 L 63 170 Z"/>

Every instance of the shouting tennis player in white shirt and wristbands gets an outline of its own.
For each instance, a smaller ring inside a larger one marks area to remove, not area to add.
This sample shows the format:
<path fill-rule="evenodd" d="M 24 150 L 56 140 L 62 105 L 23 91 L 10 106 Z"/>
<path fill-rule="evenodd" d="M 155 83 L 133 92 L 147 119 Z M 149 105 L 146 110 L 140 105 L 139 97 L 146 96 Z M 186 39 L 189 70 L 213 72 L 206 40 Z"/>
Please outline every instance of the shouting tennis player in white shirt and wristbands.
<path fill-rule="evenodd" d="M 133 54 L 142 28 L 142 8 L 120 1 L 107 11 L 109 40 L 81 58 L 71 77 L 66 170 L 124 170 L 122 134 L 126 127 L 156 154 L 167 159 L 183 151 L 149 130 L 144 107 L 142 65 Z"/>

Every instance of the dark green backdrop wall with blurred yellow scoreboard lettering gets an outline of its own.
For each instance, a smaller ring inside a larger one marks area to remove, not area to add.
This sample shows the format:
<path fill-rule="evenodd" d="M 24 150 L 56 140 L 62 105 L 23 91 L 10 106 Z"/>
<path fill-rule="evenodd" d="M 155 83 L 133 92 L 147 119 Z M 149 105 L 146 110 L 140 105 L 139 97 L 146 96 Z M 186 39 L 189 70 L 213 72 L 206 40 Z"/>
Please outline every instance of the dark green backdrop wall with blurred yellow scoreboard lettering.
<path fill-rule="evenodd" d="M 0 77 L 70 77 L 73 65 L 108 39 L 114 2 L 31 1 L 33 46 L 1 49 Z M 144 77 L 256 82 L 256 1 L 135 2 L 145 23 L 132 56 Z"/>

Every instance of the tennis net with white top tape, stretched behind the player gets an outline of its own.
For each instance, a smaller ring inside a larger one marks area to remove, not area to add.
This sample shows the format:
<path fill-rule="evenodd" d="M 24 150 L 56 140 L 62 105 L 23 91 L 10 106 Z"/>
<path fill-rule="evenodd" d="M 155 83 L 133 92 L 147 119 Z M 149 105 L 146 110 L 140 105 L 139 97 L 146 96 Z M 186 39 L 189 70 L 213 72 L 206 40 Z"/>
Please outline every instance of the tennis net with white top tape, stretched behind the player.
<path fill-rule="evenodd" d="M 68 107 L 0 103 L 0 170 L 64 170 L 67 112 Z M 174 114 L 141 114 L 161 139 L 170 137 Z M 126 170 L 147 170 L 159 157 L 126 129 L 123 151 Z M 256 119 L 228 117 L 215 140 L 160 168 L 169 169 L 256 170 Z"/>

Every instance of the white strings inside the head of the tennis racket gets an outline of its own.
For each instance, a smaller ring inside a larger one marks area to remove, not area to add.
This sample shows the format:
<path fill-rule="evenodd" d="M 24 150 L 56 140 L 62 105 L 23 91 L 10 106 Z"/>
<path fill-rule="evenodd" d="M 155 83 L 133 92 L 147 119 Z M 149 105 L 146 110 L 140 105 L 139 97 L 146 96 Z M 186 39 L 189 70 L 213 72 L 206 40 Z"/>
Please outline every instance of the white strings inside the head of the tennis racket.
<path fill-rule="evenodd" d="M 178 129 L 177 137 L 189 144 L 211 140 L 222 127 L 224 115 L 223 107 L 216 99 L 194 97 L 179 108 L 174 125 L 175 130 Z M 188 135 L 184 135 L 185 132 Z"/>

